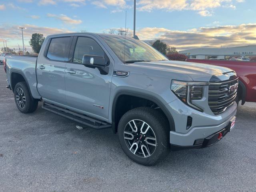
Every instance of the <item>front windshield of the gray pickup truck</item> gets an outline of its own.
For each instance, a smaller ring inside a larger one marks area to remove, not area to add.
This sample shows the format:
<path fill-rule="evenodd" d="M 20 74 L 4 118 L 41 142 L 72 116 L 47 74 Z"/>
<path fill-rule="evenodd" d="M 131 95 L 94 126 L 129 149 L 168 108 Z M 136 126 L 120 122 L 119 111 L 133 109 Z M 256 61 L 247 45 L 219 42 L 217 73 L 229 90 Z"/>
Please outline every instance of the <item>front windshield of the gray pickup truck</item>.
<path fill-rule="evenodd" d="M 124 36 L 103 36 L 102 38 L 124 63 L 168 60 L 160 52 L 141 40 L 128 37 L 125 39 L 124 47 Z"/>

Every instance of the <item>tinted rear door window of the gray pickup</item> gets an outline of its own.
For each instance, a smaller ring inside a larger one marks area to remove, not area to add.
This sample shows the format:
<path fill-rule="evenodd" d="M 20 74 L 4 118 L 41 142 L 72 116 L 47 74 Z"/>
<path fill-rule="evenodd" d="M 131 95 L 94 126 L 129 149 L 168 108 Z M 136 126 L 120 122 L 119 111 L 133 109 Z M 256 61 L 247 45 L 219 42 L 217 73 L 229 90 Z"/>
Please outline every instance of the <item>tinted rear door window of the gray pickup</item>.
<path fill-rule="evenodd" d="M 47 57 L 52 60 L 68 61 L 70 37 L 53 38 L 48 48 Z"/>

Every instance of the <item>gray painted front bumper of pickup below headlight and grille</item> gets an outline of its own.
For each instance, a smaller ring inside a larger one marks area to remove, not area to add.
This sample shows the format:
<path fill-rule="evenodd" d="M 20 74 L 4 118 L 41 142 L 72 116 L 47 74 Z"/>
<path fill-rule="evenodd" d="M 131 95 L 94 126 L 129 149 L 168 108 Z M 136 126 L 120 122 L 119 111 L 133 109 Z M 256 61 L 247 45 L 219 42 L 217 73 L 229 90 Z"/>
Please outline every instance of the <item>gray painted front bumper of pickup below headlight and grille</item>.
<path fill-rule="evenodd" d="M 180 100 L 175 100 L 168 106 L 175 123 L 175 131 L 170 131 L 170 144 L 173 146 L 195 146 L 199 148 L 208 146 L 209 142 L 206 141 L 210 140 L 211 136 L 228 128 L 230 121 L 236 116 L 237 107 L 234 102 L 224 113 L 214 116 L 188 108 L 186 105 L 182 105 Z M 192 126 L 186 130 L 188 116 L 192 117 Z M 205 141 L 202 145 L 197 146 L 195 141 L 199 139 L 204 139 Z"/>

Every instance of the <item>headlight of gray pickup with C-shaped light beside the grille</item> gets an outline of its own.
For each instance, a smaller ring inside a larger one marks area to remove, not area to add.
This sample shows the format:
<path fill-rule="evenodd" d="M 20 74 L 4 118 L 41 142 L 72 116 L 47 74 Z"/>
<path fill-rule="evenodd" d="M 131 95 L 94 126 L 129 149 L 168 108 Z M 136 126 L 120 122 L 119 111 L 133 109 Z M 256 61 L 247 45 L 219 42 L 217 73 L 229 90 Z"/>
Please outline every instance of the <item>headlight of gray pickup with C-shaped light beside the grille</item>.
<path fill-rule="evenodd" d="M 203 98 L 204 86 L 206 85 L 208 85 L 208 83 L 172 80 L 171 90 L 180 100 L 182 100 L 182 102 L 203 112 L 203 109 L 194 104 L 193 100 L 200 100 Z"/>

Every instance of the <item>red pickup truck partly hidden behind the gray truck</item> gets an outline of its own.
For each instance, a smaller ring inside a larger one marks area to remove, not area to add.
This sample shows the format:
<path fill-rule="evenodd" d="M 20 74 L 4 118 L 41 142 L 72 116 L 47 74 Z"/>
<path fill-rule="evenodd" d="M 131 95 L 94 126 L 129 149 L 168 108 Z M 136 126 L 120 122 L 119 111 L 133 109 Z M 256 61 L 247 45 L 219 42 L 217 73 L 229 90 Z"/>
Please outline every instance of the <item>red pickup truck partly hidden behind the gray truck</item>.
<path fill-rule="evenodd" d="M 186 59 L 186 61 L 218 65 L 234 70 L 239 77 L 236 102 L 242 100 L 242 105 L 245 102 L 256 102 L 256 62 L 208 59 Z"/>

